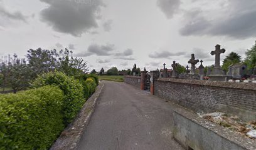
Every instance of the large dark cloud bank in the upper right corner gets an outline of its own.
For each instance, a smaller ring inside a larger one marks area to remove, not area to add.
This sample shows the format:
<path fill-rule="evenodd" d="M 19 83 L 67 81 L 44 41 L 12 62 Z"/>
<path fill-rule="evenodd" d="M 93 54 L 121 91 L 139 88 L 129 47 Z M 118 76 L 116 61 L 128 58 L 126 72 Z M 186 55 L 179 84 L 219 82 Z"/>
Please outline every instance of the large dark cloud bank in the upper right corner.
<path fill-rule="evenodd" d="M 183 36 L 228 36 L 245 39 L 256 35 L 256 1 L 228 1 L 228 10 L 220 17 L 208 17 L 206 11 L 184 13 Z"/>

